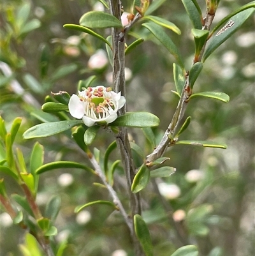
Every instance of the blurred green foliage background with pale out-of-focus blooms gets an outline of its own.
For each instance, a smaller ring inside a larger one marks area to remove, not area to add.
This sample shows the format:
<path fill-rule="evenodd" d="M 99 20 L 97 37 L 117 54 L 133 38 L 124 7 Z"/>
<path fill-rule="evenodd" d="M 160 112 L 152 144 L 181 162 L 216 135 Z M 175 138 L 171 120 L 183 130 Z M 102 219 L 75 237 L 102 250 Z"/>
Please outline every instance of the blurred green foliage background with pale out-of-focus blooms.
<path fill-rule="evenodd" d="M 130 11 L 131 2 L 122 1 L 124 11 Z M 205 12 L 204 1 L 198 2 Z M 247 2 L 222 0 L 213 24 Z M 67 23 L 78 24 L 82 14 L 96 8 L 101 8 L 96 0 L 3 0 L 1 3 L 1 116 L 8 126 L 15 117 L 22 117 L 16 144 L 27 161 L 36 140 L 23 140 L 22 133 L 41 123 L 35 113 L 45 102 L 45 96 L 59 90 L 76 93 L 78 81 L 91 75 L 97 76 L 94 85 L 111 86 L 110 64 L 99 69 L 89 64 L 91 56 L 98 49 L 105 50 L 105 45 L 88 34 L 62 27 Z M 194 43 L 182 2 L 165 1 L 154 15 L 174 22 L 182 31 L 180 36 L 171 31 L 167 33 L 179 46 L 189 70 Z M 142 191 L 143 217 L 149 223 L 157 256 L 170 255 L 182 245 L 175 229 L 190 244 L 197 244 L 201 255 L 254 254 L 254 22 L 253 16 L 207 59 L 194 86 L 194 92 L 227 93 L 230 102 L 195 98 L 186 112 L 192 121 L 181 139 L 222 141 L 228 149 L 171 147 L 166 153 L 171 158 L 167 164 L 177 168 L 177 172 L 159 181 L 176 185 L 173 195 L 165 195 L 168 212 L 164 211 L 152 184 Z M 99 33 L 106 37 L 110 30 Z M 128 110 L 156 114 L 161 124 L 154 132 L 160 140 L 178 102 L 177 96 L 171 93 L 175 90 L 173 57 L 139 22 L 131 33 L 142 35 L 145 42 L 126 57 Z M 132 41 L 134 38 L 129 35 L 128 45 Z M 3 63 L 8 64 L 11 74 L 6 75 Z M 87 163 L 68 136 L 64 133 L 38 139 L 45 147 L 45 162 Z M 146 154 L 152 151 L 140 130 L 130 130 L 130 137 Z M 112 141 L 113 137 L 101 133 L 92 147 L 104 154 Z M 118 158 L 116 151 L 112 161 Z M 4 176 L 4 179 L 8 182 L 8 193 L 20 193 L 10 178 Z M 38 204 L 43 209 L 50 197 L 60 195 L 56 240 L 68 239 L 66 255 L 112 255 L 122 248 L 131 256 L 128 229 L 118 213 L 112 213 L 107 206 L 89 207 L 80 217 L 73 212 L 78 204 L 108 199 L 104 188 L 93 185 L 94 182 L 99 180 L 82 170 L 48 172 L 41 176 Z M 119 169 L 115 189 L 128 209 L 125 188 L 124 173 Z M 1 255 L 21 255 L 17 245 L 23 242 L 24 230 L 9 225 L 3 209 L 1 213 Z M 169 222 L 172 215 L 177 227 Z"/>

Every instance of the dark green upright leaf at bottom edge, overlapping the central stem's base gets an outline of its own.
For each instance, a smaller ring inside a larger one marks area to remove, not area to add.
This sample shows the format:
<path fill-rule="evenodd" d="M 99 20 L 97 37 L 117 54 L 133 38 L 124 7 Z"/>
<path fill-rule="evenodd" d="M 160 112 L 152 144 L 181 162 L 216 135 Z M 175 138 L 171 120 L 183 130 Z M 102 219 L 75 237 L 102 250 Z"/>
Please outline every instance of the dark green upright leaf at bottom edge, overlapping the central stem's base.
<path fill-rule="evenodd" d="M 135 232 L 146 256 L 153 256 L 153 246 L 149 229 L 140 215 L 134 216 Z"/>

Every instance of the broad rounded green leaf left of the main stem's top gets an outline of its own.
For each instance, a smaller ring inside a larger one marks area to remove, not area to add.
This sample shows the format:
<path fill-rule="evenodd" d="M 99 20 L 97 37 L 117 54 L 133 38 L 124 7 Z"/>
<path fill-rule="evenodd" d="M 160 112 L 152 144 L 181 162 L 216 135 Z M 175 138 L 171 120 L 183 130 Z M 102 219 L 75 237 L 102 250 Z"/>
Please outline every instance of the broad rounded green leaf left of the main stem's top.
<path fill-rule="evenodd" d="M 120 20 L 103 11 L 89 11 L 82 15 L 79 23 L 91 28 L 122 27 Z"/>

